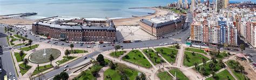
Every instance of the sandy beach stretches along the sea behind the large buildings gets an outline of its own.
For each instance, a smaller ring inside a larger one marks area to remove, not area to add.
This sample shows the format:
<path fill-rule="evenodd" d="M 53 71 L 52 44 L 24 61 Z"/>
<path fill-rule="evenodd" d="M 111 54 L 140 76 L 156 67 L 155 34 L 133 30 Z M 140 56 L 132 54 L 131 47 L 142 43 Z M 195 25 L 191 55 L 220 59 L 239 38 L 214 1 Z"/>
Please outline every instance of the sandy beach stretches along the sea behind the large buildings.
<path fill-rule="evenodd" d="M 139 17 L 130 17 L 130 18 L 119 18 L 119 19 L 112 19 L 113 23 L 116 26 L 122 26 L 122 25 L 138 25 L 138 21 L 140 19 L 150 19 L 155 16 L 164 15 L 168 11 L 164 9 L 159 8 L 146 8 L 154 10 L 153 14 L 147 14 L 145 16 L 139 16 Z M 33 22 L 36 20 L 32 19 L 26 19 L 26 18 L 10 18 L 10 19 L 0 19 L 1 24 L 8 24 L 8 25 L 32 25 Z"/>

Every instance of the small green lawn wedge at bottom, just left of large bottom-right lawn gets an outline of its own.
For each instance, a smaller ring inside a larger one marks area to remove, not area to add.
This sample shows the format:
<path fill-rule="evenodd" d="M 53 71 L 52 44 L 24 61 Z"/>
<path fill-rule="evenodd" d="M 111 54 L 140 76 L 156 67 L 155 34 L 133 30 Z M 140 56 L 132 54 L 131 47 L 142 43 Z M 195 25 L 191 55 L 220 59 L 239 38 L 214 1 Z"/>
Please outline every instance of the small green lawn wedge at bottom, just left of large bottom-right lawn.
<path fill-rule="evenodd" d="M 169 72 L 171 72 L 172 75 L 175 75 L 176 73 L 176 77 L 182 80 L 189 80 L 184 74 L 183 72 L 181 72 L 179 69 L 172 69 L 169 70 Z"/>

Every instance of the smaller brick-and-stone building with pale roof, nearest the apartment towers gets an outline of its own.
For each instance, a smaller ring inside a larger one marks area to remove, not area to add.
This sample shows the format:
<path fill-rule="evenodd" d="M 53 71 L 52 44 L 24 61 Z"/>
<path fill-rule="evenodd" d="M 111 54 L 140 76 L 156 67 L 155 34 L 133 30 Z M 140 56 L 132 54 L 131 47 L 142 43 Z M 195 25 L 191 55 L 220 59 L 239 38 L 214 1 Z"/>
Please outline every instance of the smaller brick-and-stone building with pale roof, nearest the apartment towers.
<path fill-rule="evenodd" d="M 141 19 L 139 25 L 145 32 L 159 38 L 173 31 L 181 30 L 181 27 L 185 23 L 185 19 L 185 16 L 168 13 L 165 16 L 159 16 L 149 20 Z"/>

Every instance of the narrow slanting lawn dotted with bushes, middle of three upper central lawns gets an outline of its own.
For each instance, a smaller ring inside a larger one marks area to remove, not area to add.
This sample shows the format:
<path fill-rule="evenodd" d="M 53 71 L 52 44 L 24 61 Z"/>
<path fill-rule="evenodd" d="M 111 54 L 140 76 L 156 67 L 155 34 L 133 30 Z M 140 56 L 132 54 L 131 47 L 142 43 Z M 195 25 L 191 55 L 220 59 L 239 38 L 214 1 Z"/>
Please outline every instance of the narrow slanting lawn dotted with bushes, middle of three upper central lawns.
<path fill-rule="evenodd" d="M 145 53 L 147 55 L 147 57 L 149 57 L 149 59 L 151 60 L 151 62 L 153 62 L 154 65 L 160 63 L 161 57 L 158 56 L 156 53 L 154 53 L 154 50 L 152 50 L 152 49 L 143 49 L 143 53 Z M 155 60 L 155 57 L 156 57 L 156 60 Z"/>

